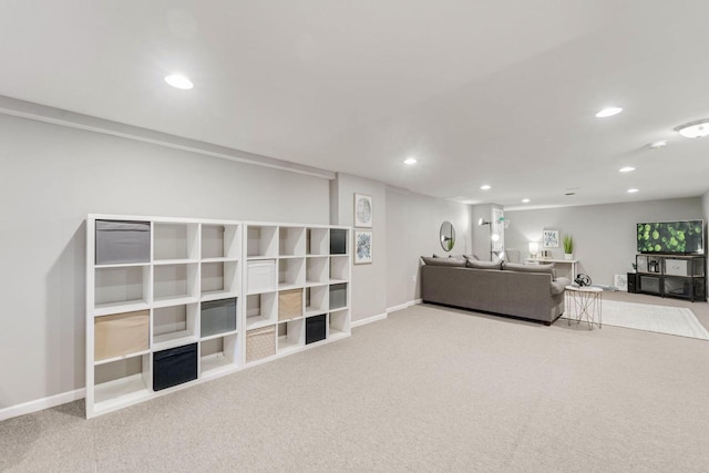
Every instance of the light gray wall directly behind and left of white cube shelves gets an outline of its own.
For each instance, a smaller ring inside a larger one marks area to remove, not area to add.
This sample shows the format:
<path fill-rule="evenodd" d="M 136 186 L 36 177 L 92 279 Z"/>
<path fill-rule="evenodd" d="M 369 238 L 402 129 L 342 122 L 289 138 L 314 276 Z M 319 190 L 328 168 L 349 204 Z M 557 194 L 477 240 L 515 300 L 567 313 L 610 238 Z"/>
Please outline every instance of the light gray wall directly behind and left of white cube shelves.
<path fill-rule="evenodd" d="M 329 182 L 0 115 L 0 409 L 84 387 L 89 213 L 327 224 Z"/>

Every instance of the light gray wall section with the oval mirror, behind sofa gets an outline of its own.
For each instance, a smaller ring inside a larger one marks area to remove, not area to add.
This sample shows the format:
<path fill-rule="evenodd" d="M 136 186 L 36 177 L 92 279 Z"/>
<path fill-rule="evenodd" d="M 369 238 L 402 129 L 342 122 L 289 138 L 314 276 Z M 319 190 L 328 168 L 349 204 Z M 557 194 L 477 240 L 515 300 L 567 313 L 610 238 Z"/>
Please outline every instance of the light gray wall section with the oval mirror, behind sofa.
<path fill-rule="evenodd" d="M 470 206 L 387 188 L 387 307 L 419 299 L 421 256 L 444 255 L 439 239 L 441 224 L 455 228 L 450 255 L 470 253 Z"/>

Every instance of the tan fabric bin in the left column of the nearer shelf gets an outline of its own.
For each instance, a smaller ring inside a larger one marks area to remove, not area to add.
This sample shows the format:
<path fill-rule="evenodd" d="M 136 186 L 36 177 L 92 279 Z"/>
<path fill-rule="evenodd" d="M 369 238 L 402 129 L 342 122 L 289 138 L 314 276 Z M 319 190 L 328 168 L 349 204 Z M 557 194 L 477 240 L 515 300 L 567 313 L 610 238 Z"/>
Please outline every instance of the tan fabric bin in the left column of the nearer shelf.
<path fill-rule="evenodd" d="M 148 348 L 150 312 L 116 313 L 93 321 L 94 360 L 123 357 Z"/>

